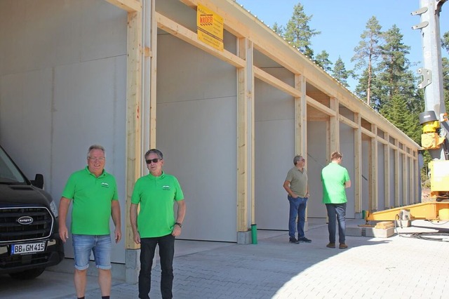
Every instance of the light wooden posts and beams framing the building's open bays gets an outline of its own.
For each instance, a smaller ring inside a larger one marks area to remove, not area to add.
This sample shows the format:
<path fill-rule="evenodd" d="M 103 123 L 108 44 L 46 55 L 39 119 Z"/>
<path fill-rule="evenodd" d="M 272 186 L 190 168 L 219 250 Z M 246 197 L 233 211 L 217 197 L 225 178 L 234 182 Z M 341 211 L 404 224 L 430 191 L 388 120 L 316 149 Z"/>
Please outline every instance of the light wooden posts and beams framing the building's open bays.
<path fill-rule="evenodd" d="M 196 10 L 199 4 L 215 11 L 224 19 L 225 31 L 237 41 L 236 53 L 217 51 L 197 39 L 196 32 L 170 20 L 156 11 L 155 1 L 105 0 L 128 12 L 128 60 L 127 92 L 128 107 L 126 144 L 126 195 L 127 211 L 133 183 L 142 173 L 140 158 L 142 147 L 156 146 L 156 48 L 157 30 L 173 34 L 178 39 L 195 46 L 216 58 L 233 65 L 238 78 L 237 117 L 237 229 L 247 232 L 255 214 L 254 169 L 254 81 L 259 79 L 270 86 L 291 95 L 295 99 L 295 152 L 307 152 L 307 121 L 326 121 L 326 157 L 340 149 L 340 124 L 346 124 L 354 132 L 354 204 L 356 213 L 362 210 L 362 140 L 370 144 L 369 150 L 369 206 L 379 206 L 379 174 L 377 165 L 379 147 L 384 146 L 384 206 L 413 204 L 419 202 L 418 150 L 413 140 L 368 107 L 356 96 L 317 67 L 269 27 L 251 15 L 235 1 L 228 0 L 180 0 L 185 6 Z M 157 2 L 157 1 L 156 1 Z M 149 31 L 149 32 L 148 32 Z M 294 86 L 274 77 L 253 63 L 255 51 L 262 53 L 293 74 Z M 345 117 L 340 110 L 349 110 L 354 118 Z M 147 115 L 142 115 L 147 114 Z M 145 145 L 145 146 L 144 146 Z M 394 163 L 391 164 L 391 152 Z M 399 175 L 398 163 L 402 160 L 403 173 Z M 400 182 L 399 180 L 403 180 Z M 410 183 L 406 183 L 409 181 Z M 391 194 L 390 186 L 402 185 L 403 201 L 399 201 L 396 188 Z M 126 222 L 128 223 L 128 222 Z M 126 248 L 135 248 L 129 225 L 126 227 Z"/>

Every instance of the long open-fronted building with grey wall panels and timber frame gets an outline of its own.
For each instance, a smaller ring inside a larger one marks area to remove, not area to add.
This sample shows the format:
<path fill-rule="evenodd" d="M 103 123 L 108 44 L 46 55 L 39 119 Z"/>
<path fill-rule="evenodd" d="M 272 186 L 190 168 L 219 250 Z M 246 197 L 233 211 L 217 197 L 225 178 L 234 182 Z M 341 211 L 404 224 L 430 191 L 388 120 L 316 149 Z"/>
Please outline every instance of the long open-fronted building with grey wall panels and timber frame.
<path fill-rule="evenodd" d="M 199 39 L 199 6 L 222 18 L 222 51 Z M 236 1 L 0 0 L 0 28 L 2 147 L 45 175 L 57 203 L 88 146 L 105 146 L 125 236 L 114 277 L 138 279 L 128 212 L 149 148 L 182 185 L 182 239 L 250 244 L 253 228 L 285 231 L 296 154 L 307 159 L 306 225 L 326 218 L 320 173 L 335 150 L 351 177 L 347 218 L 420 202 L 420 146 Z"/>

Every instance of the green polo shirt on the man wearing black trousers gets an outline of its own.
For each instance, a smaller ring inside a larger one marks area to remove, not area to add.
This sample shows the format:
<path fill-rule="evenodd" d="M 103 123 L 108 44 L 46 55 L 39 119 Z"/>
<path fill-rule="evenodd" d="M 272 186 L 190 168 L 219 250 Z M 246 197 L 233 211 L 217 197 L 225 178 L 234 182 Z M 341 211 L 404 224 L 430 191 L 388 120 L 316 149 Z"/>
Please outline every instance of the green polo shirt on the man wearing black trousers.
<path fill-rule="evenodd" d="M 131 203 L 140 204 L 138 231 L 141 238 L 171 234 L 175 225 L 173 204 L 184 199 L 180 183 L 173 175 L 151 173 L 135 182 Z"/>

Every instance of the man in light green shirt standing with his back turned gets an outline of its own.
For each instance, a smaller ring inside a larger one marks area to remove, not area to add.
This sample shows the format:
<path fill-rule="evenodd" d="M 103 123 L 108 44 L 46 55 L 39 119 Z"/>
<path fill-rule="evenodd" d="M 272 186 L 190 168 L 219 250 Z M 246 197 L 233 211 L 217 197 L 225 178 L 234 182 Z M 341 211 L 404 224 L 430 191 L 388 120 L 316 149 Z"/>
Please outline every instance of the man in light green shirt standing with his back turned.
<path fill-rule="evenodd" d="M 346 188 L 351 187 L 349 173 L 346 168 L 340 166 L 342 154 L 333 152 L 331 162 L 321 171 L 321 182 L 323 182 L 323 204 L 326 204 L 328 211 L 328 248 L 335 248 L 335 220 L 338 221 L 338 238 L 340 249 L 348 248 L 346 239 Z"/>

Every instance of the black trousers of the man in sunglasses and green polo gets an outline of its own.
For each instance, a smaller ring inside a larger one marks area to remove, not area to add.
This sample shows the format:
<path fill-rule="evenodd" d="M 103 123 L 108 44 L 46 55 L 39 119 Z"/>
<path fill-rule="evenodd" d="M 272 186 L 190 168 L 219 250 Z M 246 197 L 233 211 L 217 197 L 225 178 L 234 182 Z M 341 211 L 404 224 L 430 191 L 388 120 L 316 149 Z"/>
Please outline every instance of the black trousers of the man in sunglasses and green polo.
<path fill-rule="evenodd" d="M 152 266 L 154 251 L 159 244 L 161 258 L 161 295 L 162 298 L 173 298 L 173 255 L 175 255 L 175 237 L 168 234 L 163 237 L 140 239 L 140 273 L 139 298 L 149 299 L 152 283 Z"/>

